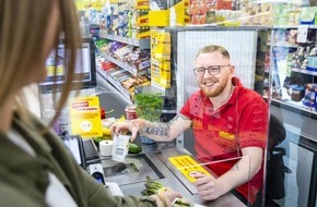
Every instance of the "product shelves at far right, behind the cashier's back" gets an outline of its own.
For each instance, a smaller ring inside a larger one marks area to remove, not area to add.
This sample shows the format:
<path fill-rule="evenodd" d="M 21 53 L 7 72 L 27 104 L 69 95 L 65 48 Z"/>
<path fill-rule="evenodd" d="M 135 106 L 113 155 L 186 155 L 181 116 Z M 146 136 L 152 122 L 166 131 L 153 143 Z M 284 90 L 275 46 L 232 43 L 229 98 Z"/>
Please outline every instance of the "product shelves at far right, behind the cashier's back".
<path fill-rule="evenodd" d="M 301 27 L 272 28 L 272 101 L 317 114 L 317 27 Z"/>

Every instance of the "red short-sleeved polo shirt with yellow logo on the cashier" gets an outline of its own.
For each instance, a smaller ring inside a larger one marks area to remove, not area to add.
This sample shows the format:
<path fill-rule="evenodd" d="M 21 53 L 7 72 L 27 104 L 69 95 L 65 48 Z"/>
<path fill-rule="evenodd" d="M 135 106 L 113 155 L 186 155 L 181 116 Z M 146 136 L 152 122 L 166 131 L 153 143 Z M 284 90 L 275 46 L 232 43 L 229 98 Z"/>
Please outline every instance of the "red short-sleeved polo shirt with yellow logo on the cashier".
<path fill-rule="evenodd" d="M 243 87 L 237 77 L 232 82 L 234 92 L 218 110 L 213 110 L 212 102 L 201 90 L 192 94 L 180 110 L 192 121 L 197 158 L 203 163 L 213 162 L 207 166 L 218 175 L 238 161 L 242 148 L 267 146 L 268 105 L 255 90 Z M 248 183 L 236 191 L 253 204 L 262 183 L 263 165 Z"/>

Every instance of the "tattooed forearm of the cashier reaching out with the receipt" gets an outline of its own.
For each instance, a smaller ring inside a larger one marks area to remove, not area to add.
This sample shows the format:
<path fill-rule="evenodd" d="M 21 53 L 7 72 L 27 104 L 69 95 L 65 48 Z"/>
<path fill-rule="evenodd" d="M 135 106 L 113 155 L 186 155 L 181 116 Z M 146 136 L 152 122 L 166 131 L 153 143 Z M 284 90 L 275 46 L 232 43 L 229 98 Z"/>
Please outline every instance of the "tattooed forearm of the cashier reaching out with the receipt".
<path fill-rule="evenodd" d="M 140 133 L 144 135 L 155 135 L 169 137 L 169 123 L 152 122 L 140 129 Z"/>

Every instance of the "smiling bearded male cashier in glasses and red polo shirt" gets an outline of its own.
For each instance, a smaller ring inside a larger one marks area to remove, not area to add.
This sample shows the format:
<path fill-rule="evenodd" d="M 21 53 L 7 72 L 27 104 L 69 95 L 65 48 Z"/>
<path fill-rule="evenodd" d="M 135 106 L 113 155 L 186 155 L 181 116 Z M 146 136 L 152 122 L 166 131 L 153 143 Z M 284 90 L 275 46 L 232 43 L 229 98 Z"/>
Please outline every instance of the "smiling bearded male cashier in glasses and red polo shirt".
<path fill-rule="evenodd" d="M 242 85 L 234 70 L 224 47 L 201 48 L 192 71 L 200 89 L 175 119 L 168 123 L 136 119 L 115 124 L 113 131 L 128 130 L 132 141 L 139 132 L 169 142 L 191 127 L 197 158 L 218 175 L 196 175 L 201 198 L 216 199 L 235 188 L 254 204 L 263 184 L 268 106 L 259 94 Z"/>

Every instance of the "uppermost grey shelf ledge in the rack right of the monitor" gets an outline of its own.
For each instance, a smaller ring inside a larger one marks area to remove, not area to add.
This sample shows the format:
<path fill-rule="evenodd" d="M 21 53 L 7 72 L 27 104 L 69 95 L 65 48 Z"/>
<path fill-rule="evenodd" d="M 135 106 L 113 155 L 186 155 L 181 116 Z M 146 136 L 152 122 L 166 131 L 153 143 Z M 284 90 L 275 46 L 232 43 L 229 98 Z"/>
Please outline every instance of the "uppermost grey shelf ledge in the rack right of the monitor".
<path fill-rule="evenodd" d="M 101 31 L 99 37 L 114 40 L 114 41 L 120 41 L 120 42 L 132 45 L 132 46 L 138 46 L 143 49 L 150 48 L 150 38 L 134 39 L 134 38 L 121 37 L 117 35 L 108 35 L 106 31 Z"/>

